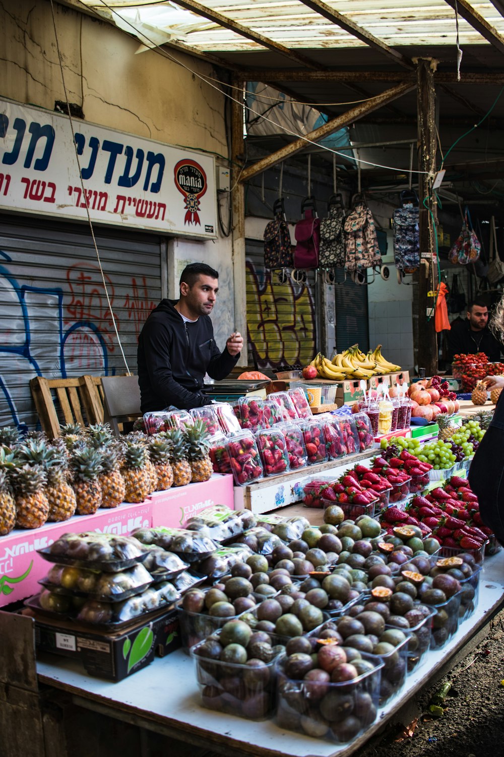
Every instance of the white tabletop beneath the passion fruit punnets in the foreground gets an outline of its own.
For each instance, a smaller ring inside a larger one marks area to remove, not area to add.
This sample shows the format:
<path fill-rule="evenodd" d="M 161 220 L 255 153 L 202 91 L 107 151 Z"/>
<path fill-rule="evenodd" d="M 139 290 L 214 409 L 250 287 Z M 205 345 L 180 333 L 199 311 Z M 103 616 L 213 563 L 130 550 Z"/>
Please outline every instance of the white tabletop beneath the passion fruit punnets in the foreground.
<path fill-rule="evenodd" d="M 207 749 L 211 746 L 224 753 L 239 752 L 254 757 L 345 757 L 360 749 L 407 699 L 444 668 L 447 660 L 461 650 L 495 612 L 502 609 L 503 590 L 504 552 L 501 551 L 484 563 L 475 613 L 461 623 L 457 634 L 441 650 L 425 656 L 425 662 L 410 674 L 399 696 L 379 711 L 376 722 L 365 734 L 341 746 L 286 731 L 274 721 L 247 721 L 204 709 L 199 705 L 193 662 L 180 650 L 155 659 L 144 670 L 117 684 L 91 678 L 82 674 L 75 662 L 47 653 L 37 660 L 37 673 L 40 684 L 70 693 L 76 705 L 196 746 Z"/>

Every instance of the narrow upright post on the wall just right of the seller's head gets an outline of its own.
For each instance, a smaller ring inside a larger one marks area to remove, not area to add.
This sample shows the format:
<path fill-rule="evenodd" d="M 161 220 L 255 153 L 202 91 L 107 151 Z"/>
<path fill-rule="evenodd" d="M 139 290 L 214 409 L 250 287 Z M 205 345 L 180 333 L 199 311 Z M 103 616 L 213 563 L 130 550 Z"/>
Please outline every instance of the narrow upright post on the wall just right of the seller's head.
<path fill-rule="evenodd" d="M 243 86 L 243 82 L 234 82 Z M 240 182 L 240 166 L 243 166 L 243 105 L 232 103 L 231 123 L 231 160 L 232 189 L 231 203 L 233 207 L 233 285 L 234 285 L 234 328 L 243 336 L 243 350 L 238 365 L 243 367 L 248 363 L 247 357 L 247 320 L 246 320 L 246 271 L 245 271 L 245 186 Z"/>

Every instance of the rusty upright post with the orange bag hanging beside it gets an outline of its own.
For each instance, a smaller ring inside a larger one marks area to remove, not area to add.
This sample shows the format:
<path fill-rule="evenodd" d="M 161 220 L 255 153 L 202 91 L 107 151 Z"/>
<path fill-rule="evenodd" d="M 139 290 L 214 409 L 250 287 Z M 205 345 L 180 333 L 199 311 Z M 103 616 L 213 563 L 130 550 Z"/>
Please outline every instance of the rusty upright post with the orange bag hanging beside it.
<path fill-rule="evenodd" d="M 432 183 L 436 164 L 436 134 L 434 121 L 435 92 L 432 61 L 421 59 L 417 64 L 418 111 L 418 167 L 419 167 L 419 235 L 421 263 L 418 287 L 413 303 L 413 337 L 415 362 L 425 368 L 425 375 L 438 371 L 438 347 L 434 329 L 434 316 L 428 311 L 434 298 L 428 296 L 438 286 L 438 263 L 434 245 L 434 225 L 437 223 L 433 202 Z"/>

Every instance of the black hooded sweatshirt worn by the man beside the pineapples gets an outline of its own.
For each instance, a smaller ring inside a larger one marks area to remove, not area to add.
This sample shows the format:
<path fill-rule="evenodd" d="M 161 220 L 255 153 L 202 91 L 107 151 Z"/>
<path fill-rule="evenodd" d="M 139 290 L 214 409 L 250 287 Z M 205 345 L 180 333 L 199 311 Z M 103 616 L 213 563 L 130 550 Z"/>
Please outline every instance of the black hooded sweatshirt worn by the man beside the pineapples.
<path fill-rule="evenodd" d="M 184 410 L 208 405 L 201 392 L 208 373 L 217 381 L 226 378 L 240 355 L 218 350 L 209 316 L 184 322 L 177 300 L 162 300 L 154 308 L 138 338 L 138 385 L 141 412 L 175 405 Z"/>

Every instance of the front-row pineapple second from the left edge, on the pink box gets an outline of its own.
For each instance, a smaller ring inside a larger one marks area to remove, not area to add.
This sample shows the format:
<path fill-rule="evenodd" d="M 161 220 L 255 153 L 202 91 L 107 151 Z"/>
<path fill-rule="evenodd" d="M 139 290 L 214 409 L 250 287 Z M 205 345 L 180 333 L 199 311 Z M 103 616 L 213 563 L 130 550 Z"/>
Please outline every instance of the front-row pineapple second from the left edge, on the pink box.
<path fill-rule="evenodd" d="M 40 528 L 48 519 L 49 503 L 44 494 L 47 474 L 41 465 L 24 465 L 12 472 L 16 502 L 16 525 Z"/>

